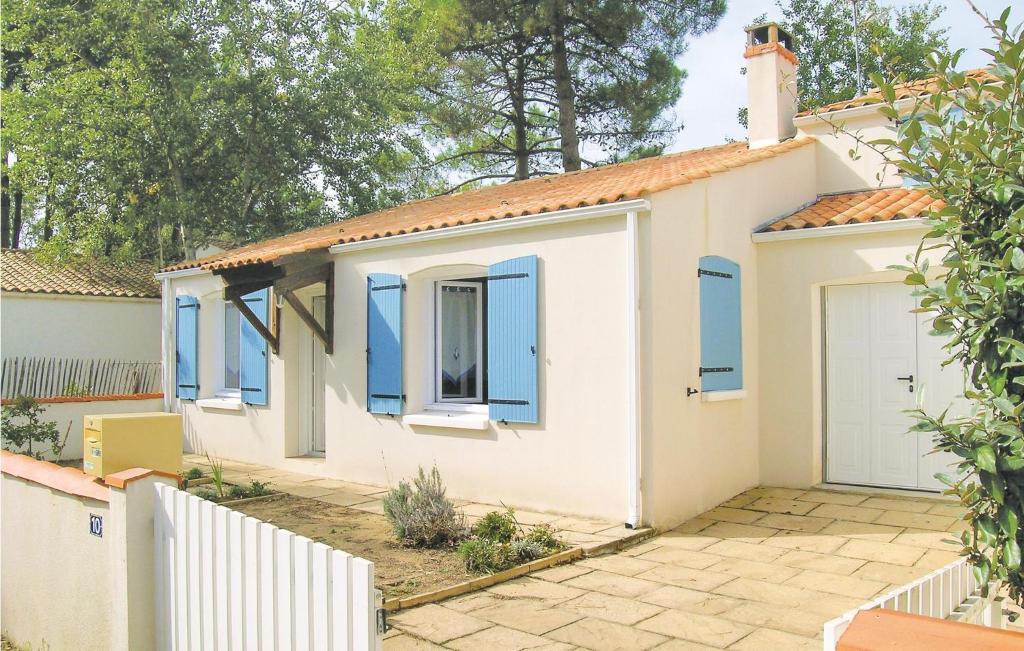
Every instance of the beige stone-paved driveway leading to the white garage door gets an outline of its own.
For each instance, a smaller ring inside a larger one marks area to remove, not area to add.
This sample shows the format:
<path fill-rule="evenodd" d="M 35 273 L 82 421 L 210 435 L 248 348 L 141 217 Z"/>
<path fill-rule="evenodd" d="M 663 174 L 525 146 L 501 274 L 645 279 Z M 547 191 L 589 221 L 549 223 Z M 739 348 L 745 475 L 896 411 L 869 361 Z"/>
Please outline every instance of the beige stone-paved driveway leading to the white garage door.
<path fill-rule="evenodd" d="M 617 554 L 394 613 L 399 649 L 820 649 L 822 624 L 954 560 L 949 502 L 755 488 Z"/>

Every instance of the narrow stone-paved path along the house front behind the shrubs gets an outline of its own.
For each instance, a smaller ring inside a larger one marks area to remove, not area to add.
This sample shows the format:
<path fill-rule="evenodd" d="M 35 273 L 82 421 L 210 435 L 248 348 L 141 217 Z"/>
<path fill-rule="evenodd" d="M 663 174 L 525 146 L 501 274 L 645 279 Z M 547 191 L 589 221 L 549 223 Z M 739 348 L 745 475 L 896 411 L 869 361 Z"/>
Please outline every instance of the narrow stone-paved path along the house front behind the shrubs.
<path fill-rule="evenodd" d="M 368 513 L 384 514 L 384 505 L 381 500 L 388 490 L 385 486 L 358 484 L 338 479 L 324 479 L 313 475 L 292 473 L 278 468 L 245 464 L 230 460 L 218 461 L 223 464 L 223 477 L 227 483 L 244 485 L 249 484 L 255 479 L 256 481 L 267 482 L 270 488 L 281 492 L 318 500 Z M 185 454 L 184 467 L 185 470 L 198 467 L 209 475 L 210 461 L 206 457 L 199 454 Z M 479 520 L 480 517 L 492 511 L 503 509 L 501 506 L 490 504 L 461 500 L 455 500 L 454 502 L 462 509 L 469 524 Z M 515 517 L 520 524 L 525 526 L 542 523 L 550 524 L 557 530 L 559 537 L 570 546 L 582 547 L 585 552 L 614 545 L 624 538 L 643 532 L 643 530 L 627 529 L 622 524 L 604 520 L 568 517 L 518 509 L 515 512 Z"/>

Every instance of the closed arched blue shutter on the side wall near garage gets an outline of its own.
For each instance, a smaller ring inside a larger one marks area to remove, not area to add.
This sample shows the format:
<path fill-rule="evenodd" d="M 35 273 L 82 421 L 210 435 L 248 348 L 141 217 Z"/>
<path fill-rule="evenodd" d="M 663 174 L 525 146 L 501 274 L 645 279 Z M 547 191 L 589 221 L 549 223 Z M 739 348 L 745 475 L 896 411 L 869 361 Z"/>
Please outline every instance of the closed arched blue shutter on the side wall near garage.
<path fill-rule="evenodd" d="M 739 265 L 719 256 L 700 258 L 700 388 L 743 388 Z"/>

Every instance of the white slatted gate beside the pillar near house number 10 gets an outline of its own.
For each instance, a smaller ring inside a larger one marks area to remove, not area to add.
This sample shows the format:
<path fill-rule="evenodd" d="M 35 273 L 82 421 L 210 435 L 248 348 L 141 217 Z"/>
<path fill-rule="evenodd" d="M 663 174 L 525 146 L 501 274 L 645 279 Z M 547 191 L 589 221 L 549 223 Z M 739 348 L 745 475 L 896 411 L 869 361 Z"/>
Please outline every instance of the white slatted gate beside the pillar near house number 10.
<path fill-rule="evenodd" d="M 156 489 L 158 649 L 382 648 L 373 563 Z"/>

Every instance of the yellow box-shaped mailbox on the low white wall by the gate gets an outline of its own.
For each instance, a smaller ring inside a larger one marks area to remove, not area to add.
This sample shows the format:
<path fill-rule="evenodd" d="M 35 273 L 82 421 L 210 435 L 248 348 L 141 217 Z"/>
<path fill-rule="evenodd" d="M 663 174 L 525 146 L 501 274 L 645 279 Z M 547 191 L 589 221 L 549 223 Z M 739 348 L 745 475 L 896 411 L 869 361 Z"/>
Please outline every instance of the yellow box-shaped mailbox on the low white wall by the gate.
<path fill-rule="evenodd" d="M 181 415 L 111 414 L 84 421 L 86 473 L 103 478 L 129 468 L 181 472 Z"/>

